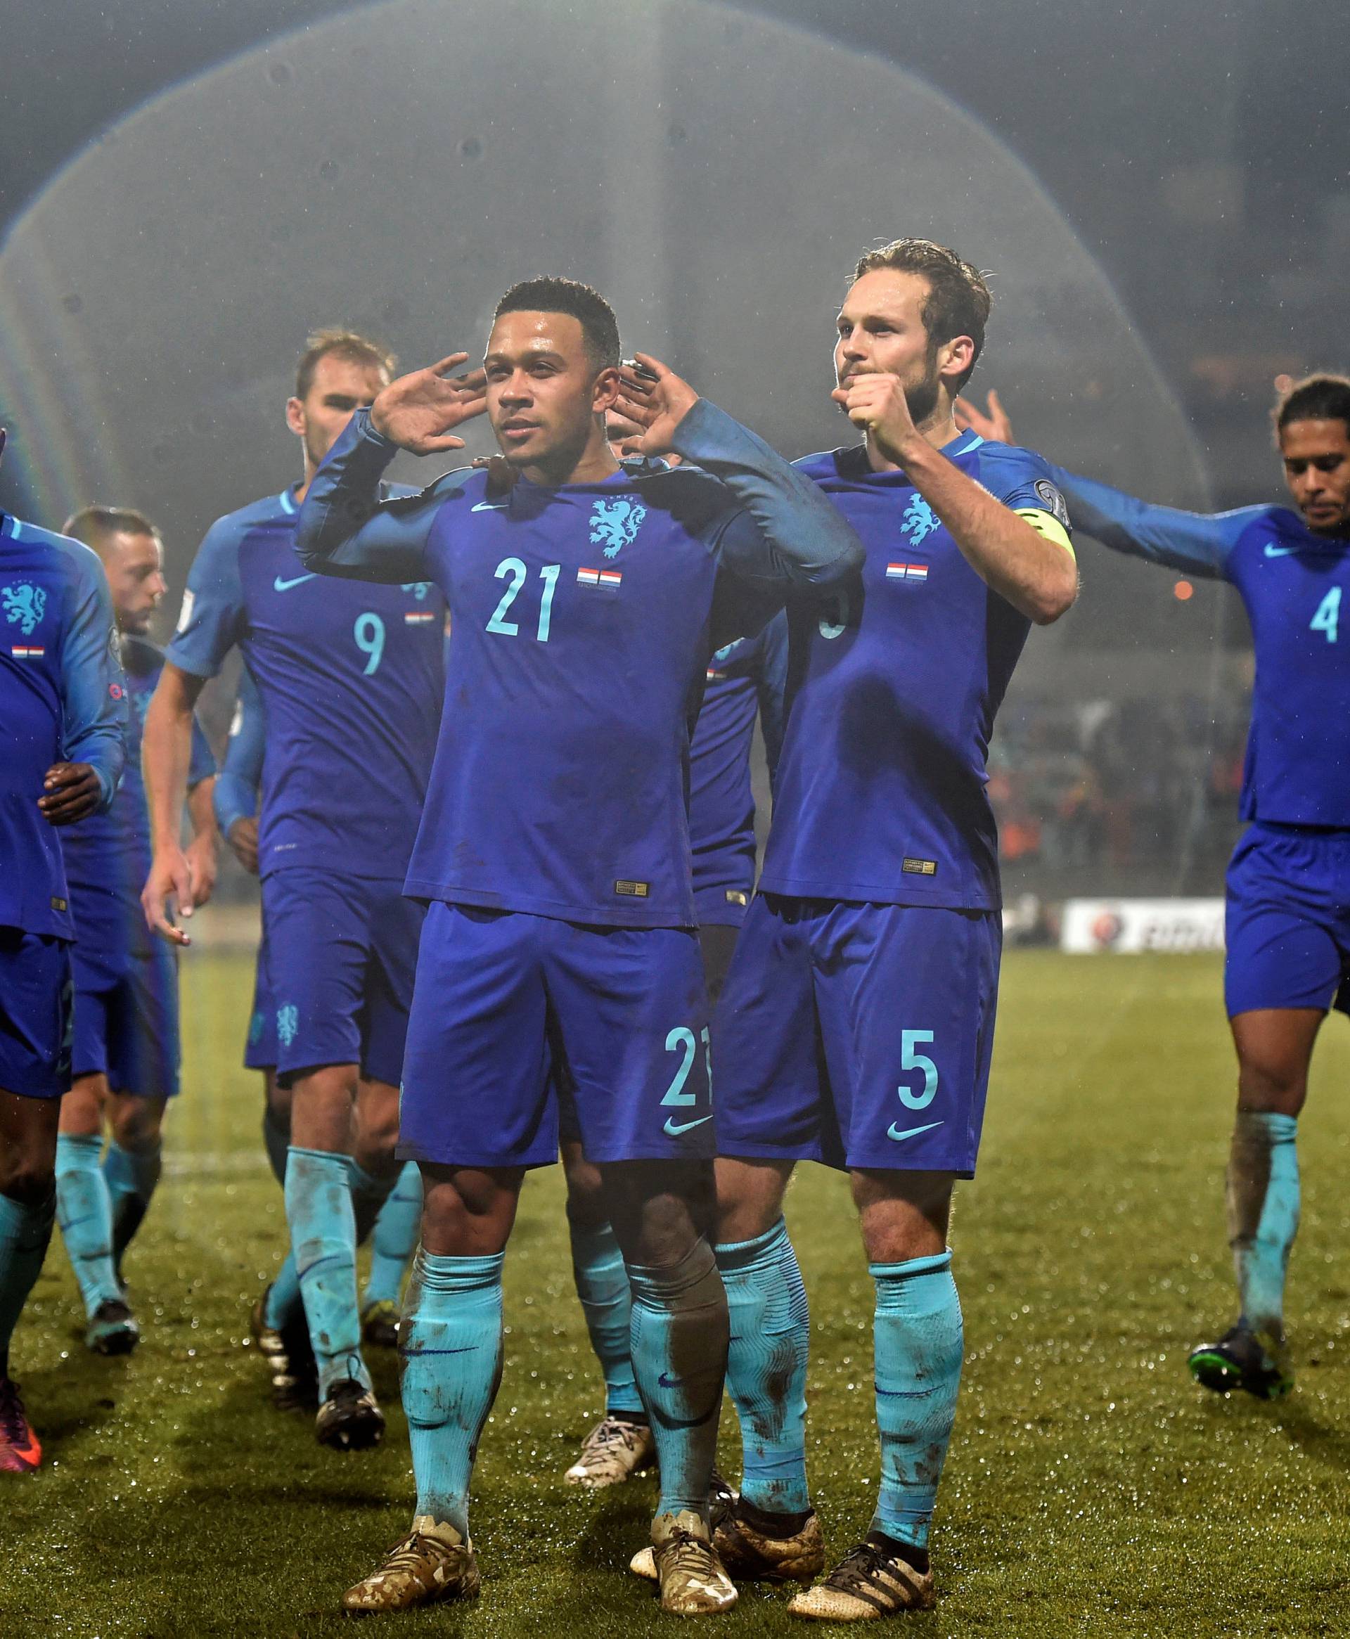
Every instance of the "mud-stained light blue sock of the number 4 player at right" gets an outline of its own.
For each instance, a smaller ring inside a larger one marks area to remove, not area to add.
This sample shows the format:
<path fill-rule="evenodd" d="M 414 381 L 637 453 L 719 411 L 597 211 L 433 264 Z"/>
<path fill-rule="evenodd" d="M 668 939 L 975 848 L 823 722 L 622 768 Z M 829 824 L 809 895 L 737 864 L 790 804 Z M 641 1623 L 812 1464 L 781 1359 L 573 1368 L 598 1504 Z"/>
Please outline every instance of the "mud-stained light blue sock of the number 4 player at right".
<path fill-rule="evenodd" d="M 1229 1244 L 1242 1319 L 1284 1337 L 1284 1275 L 1299 1231 L 1298 1116 L 1239 1110 L 1229 1159 Z"/>

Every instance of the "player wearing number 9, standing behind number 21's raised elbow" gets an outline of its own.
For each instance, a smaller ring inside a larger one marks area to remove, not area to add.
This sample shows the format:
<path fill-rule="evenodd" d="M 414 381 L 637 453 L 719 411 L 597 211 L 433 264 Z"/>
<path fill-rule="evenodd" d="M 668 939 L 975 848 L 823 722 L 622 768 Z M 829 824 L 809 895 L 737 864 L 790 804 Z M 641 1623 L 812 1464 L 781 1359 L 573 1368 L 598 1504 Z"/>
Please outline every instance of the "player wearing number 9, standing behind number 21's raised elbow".
<path fill-rule="evenodd" d="M 300 500 L 390 359 L 319 331 L 287 423 L 303 480 L 218 520 L 188 574 L 179 629 L 146 720 L 154 864 L 143 905 L 177 942 L 195 882 L 179 849 L 192 705 L 233 647 L 267 713 L 259 867 L 277 1074 L 292 1085 L 287 1221 L 318 1362 L 321 1444 L 383 1434 L 360 1352 L 356 1219 L 398 1175 L 398 1077 L 421 908 L 401 897 L 444 693 L 444 605 L 424 580 L 328 587 L 292 551 Z M 352 1111 L 364 1083 L 352 1159 Z"/>

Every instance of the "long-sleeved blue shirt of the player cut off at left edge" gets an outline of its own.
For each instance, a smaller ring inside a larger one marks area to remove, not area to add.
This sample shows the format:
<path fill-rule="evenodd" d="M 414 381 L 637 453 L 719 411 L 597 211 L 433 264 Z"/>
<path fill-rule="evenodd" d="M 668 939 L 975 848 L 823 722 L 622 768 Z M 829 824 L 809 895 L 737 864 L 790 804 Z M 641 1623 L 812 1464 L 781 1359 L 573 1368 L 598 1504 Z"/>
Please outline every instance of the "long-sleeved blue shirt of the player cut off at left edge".
<path fill-rule="evenodd" d="M 106 811 L 126 760 L 126 685 L 98 557 L 0 513 L 0 926 L 74 939 L 54 762 L 87 762 Z M 88 823 L 88 821 L 85 821 Z"/>

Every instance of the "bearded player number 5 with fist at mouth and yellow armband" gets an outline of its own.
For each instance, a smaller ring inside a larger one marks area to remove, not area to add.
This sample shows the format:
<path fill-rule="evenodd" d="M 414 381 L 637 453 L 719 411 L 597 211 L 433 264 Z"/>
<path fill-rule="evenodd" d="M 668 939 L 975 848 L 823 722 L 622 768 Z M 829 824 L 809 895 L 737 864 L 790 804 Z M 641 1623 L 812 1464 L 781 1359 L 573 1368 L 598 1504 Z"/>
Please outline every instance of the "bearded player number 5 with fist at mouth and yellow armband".
<path fill-rule="evenodd" d="M 716 1254 L 744 1446 L 716 1542 L 732 1573 L 806 1580 L 824 1562 L 806 1293 L 783 1224 L 798 1160 L 849 1172 L 877 1285 L 877 1510 L 790 1606 L 832 1621 L 934 1600 L 929 1521 L 962 1367 L 947 1223 L 975 1170 L 1001 947 L 985 754 L 1031 624 L 1076 593 L 1045 462 L 952 420 L 988 311 L 985 280 L 942 246 L 899 239 L 857 266 L 834 398 L 863 441 L 798 470 L 867 561 L 831 598 L 788 605 L 773 824 L 716 1019 Z"/>

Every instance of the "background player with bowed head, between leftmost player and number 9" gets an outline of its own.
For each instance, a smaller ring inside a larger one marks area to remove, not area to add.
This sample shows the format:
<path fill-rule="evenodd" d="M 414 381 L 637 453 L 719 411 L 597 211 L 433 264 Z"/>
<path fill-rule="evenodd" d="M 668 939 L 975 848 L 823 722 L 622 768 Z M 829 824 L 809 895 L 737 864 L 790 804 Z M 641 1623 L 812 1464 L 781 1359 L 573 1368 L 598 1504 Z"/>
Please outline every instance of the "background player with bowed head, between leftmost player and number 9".
<path fill-rule="evenodd" d="M 62 831 L 70 915 L 75 919 L 74 1080 L 61 1105 L 56 1211 L 85 1306 L 85 1344 L 128 1354 L 139 1326 L 126 1301 L 121 1264 L 146 1216 L 161 1169 L 164 1106 L 179 1092 L 179 972 L 174 951 L 151 938 L 141 885 L 151 862 L 149 811 L 141 783 L 141 724 L 164 665 L 146 633 L 167 590 L 164 544 L 143 513 L 85 506 L 64 534 L 92 547 L 108 579 L 121 636 L 129 720 L 126 769 L 106 813 Z M 190 869 L 198 900 L 216 877 L 211 787 L 216 762 L 192 726 Z M 103 1154 L 103 1129 L 108 1149 Z"/>

